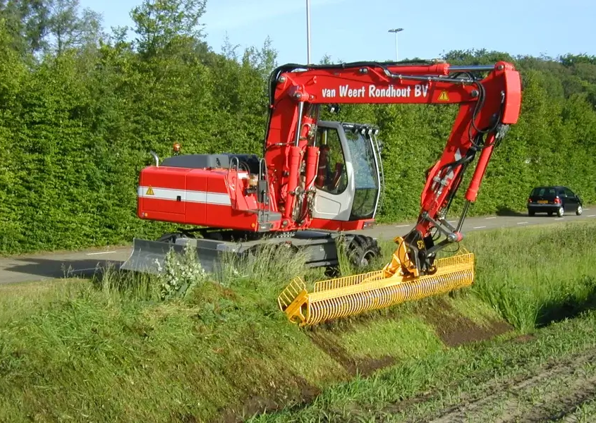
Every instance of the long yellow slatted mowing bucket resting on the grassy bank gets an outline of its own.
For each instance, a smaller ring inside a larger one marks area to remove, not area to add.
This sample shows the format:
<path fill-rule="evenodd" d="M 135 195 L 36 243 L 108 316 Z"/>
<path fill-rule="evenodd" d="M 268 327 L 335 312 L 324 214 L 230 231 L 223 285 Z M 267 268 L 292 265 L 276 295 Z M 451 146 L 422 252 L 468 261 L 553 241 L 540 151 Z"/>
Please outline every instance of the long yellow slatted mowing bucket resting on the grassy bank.
<path fill-rule="evenodd" d="M 347 276 L 315 283 L 308 293 L 301 278 L 295 278 L 278 297 L 279 308 L 300 326 L 354 316 L 401 302 L 420 300 L 470 286 L 474 281 L 474 255 L 461 253 L 438 259 L 432 275 L 406 279 L 386 277 L 384 271 Z"/>

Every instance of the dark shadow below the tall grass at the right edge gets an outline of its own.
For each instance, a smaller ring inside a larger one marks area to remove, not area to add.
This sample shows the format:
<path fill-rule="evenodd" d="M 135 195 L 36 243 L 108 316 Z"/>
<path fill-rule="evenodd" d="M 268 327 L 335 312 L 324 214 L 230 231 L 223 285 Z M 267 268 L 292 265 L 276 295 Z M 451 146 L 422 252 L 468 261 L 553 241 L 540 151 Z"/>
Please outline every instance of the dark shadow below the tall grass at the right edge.
<path fill-rule="evenodd" d="M 578 317 L 583 312 L 596 309 L 596 278 L 584 276 L 578 281 L 578 284 L 586 289 L 585 295 L 570 294 L 566 298 L 545 302 L 538 308 L 537 327 Z"/>

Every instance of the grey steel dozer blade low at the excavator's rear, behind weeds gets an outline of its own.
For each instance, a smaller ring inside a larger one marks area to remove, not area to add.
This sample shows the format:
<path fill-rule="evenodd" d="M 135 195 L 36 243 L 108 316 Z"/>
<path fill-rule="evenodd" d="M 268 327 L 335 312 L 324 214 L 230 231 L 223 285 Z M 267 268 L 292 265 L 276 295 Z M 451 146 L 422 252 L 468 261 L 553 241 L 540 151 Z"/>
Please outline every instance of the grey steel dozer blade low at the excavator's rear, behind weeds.
<path fill-rule="evenodd" d="M 130 257 L 121 264 L 120 270 L 134 271 L 147 274 L 162 274 L 165 267 L 166 256 L 170 250 L 183 255 L 186 245 L 164 243 L 161 241 L 140 240 L 134 238 L 133 252 Z M 212 245 L 196 245 L 197 261 L 207 272 L 214 271 L 219 260 L 219 251 Z"/>

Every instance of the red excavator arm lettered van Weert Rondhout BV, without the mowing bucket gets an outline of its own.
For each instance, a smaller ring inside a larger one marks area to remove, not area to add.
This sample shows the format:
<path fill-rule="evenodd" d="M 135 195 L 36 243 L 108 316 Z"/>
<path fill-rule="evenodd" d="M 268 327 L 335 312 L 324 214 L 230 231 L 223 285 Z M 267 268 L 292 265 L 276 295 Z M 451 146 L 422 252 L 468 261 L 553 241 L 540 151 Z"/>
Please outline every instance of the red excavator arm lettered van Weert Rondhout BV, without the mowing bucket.
<path fill-rule="evenodd" d="M 487 72 L 487 75 L 480 79 L 478 72 Z M 432 273 L 436 253 L 462 239 L 463 220 L 470 202 L 476 199 L 492 151 L 509 125 L 518 120 L 521 107 L 518 71 L 506 62 L 494 66 L 365 62 L 305 69 L 286 65 L 272 73 L 272 77 L 265 154 L 270 154 L 269 163 L 279 163 L 272 178 L 279 180 L 280 186 L 286 185 L 288 192 L 293 192 L 298 184 L 300 157 L 308 149 L 318 152 L 310 140 L 320 104 L 459 105 L 442 156 L 427 172 L 418 223 L 408 235 L 396 238 L 399 247 L 386 268 L 389 274 L 401 271 L 415 277 Z M 278 157 L 273 157 L 276 150 L 272 147 L 279 145 L 289 147 L 290 153 L 278 152 Z M 446 212 L 464 172 L 477 155 L 479 159 L 466 192 L 463 214 L 457 226 L 451 226 L 445 219 Z M 306 189 L 312 189 L 312 173 L 307 173 L 306 180 Z M 286 216 L 291 216 L 291 200 L 290 196 Z M 445 236 L 442 243 L 434 244 L 432 228 Z"/>

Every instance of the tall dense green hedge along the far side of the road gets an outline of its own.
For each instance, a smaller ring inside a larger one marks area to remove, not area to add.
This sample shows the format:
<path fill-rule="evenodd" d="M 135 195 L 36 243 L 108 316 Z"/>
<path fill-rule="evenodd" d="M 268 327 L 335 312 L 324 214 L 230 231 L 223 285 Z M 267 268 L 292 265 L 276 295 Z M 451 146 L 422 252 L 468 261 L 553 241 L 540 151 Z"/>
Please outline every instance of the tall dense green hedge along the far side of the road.
<path fill-rule="evenodd" d="M 135 216 L 138 172 L 152 162 L 150 150 L 164 157 L 181 142 L 186 153 L 262 154 L 275 57 L 268 44 L 236 57 L 188 37 L 152 54 L 106 41 L 32 61 L 12 36 L 0 27 L 2 253 L 128 243 L 168 230 Z M 508 59 L 523 73 L 521 121 L 495 151 L 472 214 L 523 209 L 541 183 L 596 201 L 594 58 L 456 51 L 446 59 Z M 418 214 L 424 173 L 455 113 L 454 106 L 365 105 L 334 116 L 382 130 L 387 190 L 379 221 Z"/>

